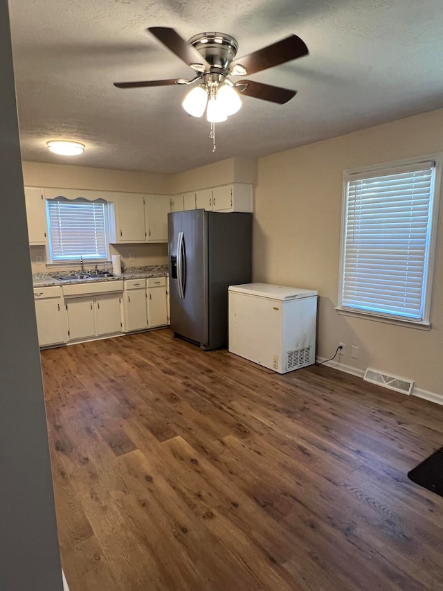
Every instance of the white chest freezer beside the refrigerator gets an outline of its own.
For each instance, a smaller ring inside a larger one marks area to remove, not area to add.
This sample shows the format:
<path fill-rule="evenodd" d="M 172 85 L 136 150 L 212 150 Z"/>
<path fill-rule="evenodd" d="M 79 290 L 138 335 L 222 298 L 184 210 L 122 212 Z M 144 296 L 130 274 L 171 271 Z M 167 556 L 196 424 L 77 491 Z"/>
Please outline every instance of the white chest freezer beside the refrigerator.
<path fill-rule="evenodd" d="M 278 373 L 315 362 L 316 291 L 245 283 L 228 296 L 230 353 Z"/>

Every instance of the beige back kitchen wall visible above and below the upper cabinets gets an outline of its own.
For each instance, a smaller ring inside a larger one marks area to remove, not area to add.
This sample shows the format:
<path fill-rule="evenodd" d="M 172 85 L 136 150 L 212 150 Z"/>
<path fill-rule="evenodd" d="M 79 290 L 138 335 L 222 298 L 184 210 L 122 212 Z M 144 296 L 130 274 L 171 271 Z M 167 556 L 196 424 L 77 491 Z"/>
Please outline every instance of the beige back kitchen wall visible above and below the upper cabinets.
<path fill-rule="evenodd" d="M 25 186 L 83 188 L 98 191 L 154 193 L 159 195 L 170 194 L 170 175 L 26 161 L 23 162 L 23 175 Z M 120 254 L 125 267 L 165 265 L 168 263 L 168 245 L 166 244 L 111 246 L 111 254 Z M 46 267 L 44 247 L 31 247 L 30 257 L 33 273 L 54 270 L 54 267 L 50 269 Z M 39 260 L 42 262 L 37 263 Z M 9 264 L 12 265 L 13 261 L 9 261 Z"/>

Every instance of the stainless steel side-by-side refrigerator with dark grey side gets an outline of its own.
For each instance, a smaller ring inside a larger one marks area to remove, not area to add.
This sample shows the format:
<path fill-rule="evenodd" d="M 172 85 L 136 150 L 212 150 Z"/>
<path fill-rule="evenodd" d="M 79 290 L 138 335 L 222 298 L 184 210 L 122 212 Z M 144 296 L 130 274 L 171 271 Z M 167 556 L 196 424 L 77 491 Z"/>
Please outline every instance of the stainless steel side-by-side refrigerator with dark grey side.
<path fill-rule="evenodd" d="M 208 351 L 228 343 L 228 287 L 251 283 L 252 214 L 168 213 L 174 336 Z"/>

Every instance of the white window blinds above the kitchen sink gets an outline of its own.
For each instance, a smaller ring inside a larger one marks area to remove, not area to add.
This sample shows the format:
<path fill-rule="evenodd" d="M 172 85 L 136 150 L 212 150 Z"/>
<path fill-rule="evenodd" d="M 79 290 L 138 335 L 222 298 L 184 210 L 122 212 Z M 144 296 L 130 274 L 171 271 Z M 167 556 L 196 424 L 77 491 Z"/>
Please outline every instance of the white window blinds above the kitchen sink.
<path fill-rule="evenodd" d="M 106 203 L 47 200 L 53 261 L 107 260 Z"/>

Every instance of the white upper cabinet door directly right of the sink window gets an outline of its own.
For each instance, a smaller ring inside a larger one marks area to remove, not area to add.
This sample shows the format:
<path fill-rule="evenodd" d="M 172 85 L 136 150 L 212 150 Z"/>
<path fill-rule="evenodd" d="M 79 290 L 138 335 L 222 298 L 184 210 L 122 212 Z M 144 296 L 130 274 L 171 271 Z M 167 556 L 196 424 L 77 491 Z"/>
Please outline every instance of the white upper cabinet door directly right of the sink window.
<path fill-rule="evenodd" d="M 111 201 L 109 215 L 109 240 L 120 242 L 145 242 L 145 198 L 138 193 L 105 194 Z"/>

